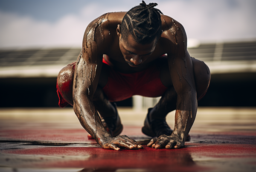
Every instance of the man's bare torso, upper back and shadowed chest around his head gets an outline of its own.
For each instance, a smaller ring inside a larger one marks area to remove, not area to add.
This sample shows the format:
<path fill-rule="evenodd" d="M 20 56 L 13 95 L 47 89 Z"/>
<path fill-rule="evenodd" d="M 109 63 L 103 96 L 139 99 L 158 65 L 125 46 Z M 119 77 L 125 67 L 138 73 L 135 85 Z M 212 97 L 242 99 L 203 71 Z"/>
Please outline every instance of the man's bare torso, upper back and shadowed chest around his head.
<path fill-rule="evenodd" d="M 115 70 L 121 73 L 139 72 L 153 65 L 154 61 L 163 54 L 168 54 L 168 56 L 172 56 L 172 54 L 175 52 L 175 48 L 177 48 L 177 45 L 175 44 L 176 35 L 172 32 L 174 31 L 173 29 L 176 26 L 172 24 L 171 17 L 161 15 L 163 34 L 157 42 L 154 53 L 140 67 L 130 67 L 125 62 L 123 55 L 119 49 L 119 38 L 116 33 L 117 25 L 122 23 L 122 18 L 125 14 L 126 12 L 114 12 L 106 14 L 104 21 L 102 22 L 102 28 L 104 33 L 104 59 L 107 62 L 111 63 L 112 67 Z"/>

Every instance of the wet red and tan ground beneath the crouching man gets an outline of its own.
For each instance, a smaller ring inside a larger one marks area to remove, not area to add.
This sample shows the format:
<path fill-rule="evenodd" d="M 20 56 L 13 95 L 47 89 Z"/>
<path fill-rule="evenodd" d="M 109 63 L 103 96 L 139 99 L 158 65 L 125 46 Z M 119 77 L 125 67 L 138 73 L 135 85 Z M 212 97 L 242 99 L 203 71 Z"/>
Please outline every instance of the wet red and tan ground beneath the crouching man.
<path fill-rule="evenodd" d="M 0 172 L 254 172 L 256 108 L 198 109 L 191 141 L 147 147 L 146 110 L 119 108 L 122 135 L 145 149 L 106 150 L 87 138 L 72 108 L 0 108 Z M 174 125 L 174 113 L 167 122 Z"/>

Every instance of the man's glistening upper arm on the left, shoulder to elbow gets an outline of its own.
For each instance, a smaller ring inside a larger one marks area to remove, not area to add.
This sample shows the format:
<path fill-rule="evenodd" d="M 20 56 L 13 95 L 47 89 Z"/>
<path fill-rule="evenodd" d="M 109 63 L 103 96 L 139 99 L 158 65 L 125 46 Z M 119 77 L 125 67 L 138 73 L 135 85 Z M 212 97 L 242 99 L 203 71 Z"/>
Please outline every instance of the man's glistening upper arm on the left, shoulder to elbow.
<path fill-rule="evenodd" d="M 91 100 L 99 82 L 104 52 L 105 15 L 93 20 L 84 33 L 82 51 L 76 62 L 73 100 L 87 96 Z"/>

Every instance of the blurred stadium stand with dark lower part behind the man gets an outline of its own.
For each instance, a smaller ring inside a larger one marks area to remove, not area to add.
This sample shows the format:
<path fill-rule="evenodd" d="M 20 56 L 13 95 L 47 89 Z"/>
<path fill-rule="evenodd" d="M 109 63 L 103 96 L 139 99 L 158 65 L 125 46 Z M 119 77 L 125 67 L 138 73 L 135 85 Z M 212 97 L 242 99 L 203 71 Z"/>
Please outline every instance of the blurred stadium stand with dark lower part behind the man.
<path fill-rule="evenodd" d="M 33 97 L 14 106 L 56 106 L 55 81 L 58 72 L 76 61 L 80 51 L 80 48 L 0 50 L 0 89 L 6 90 L 5 96 L 8 97 L 8 92 L 9 95 L 20 94 L 17 89 L 15 92 L 14 85 L 28 93 L 40 87 L 42 93 L 37 91 L 37 94 L 44 97 L 44 101 L 36 103 L 32 101 L 36 99 Z M 188 48 L 188 51 L 192 57 L 203 60 L 212 74 L 207 95 L 199 105 L 256 106 L 256 40 L 204 43 Z M 24 99 L 29 94 L 22 95 Z M 232 95 L 236 95 L 235 98 Z M 220 99 L 220 96 L 224 98 Z M 1 107 L 7 106 L 5 101 L 1 100 Z M 121 105 L 130 106 L 131 100 Z"/>

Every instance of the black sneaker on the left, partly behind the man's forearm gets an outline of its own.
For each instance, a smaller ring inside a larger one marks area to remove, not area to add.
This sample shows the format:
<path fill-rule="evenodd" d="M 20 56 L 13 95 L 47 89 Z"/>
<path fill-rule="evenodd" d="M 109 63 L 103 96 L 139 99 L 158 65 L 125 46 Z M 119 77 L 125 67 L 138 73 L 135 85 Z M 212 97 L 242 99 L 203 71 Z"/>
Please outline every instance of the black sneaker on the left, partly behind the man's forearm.
<path fill-rule="evenodd" d="M 116 103 L 111 102 L 111 104 L 116 109 Z M 103 126 L 108 131 L 108 133 L 111 134 L 112 137 L 116 137 L 122 132 L 123 126 L 121 124 L 119 115 L 117 113 L 117 109 L 116 109 L 115 117 L 105 117 L 105 118 L 101 118 L 101 120 L 102 120 Z"/>

